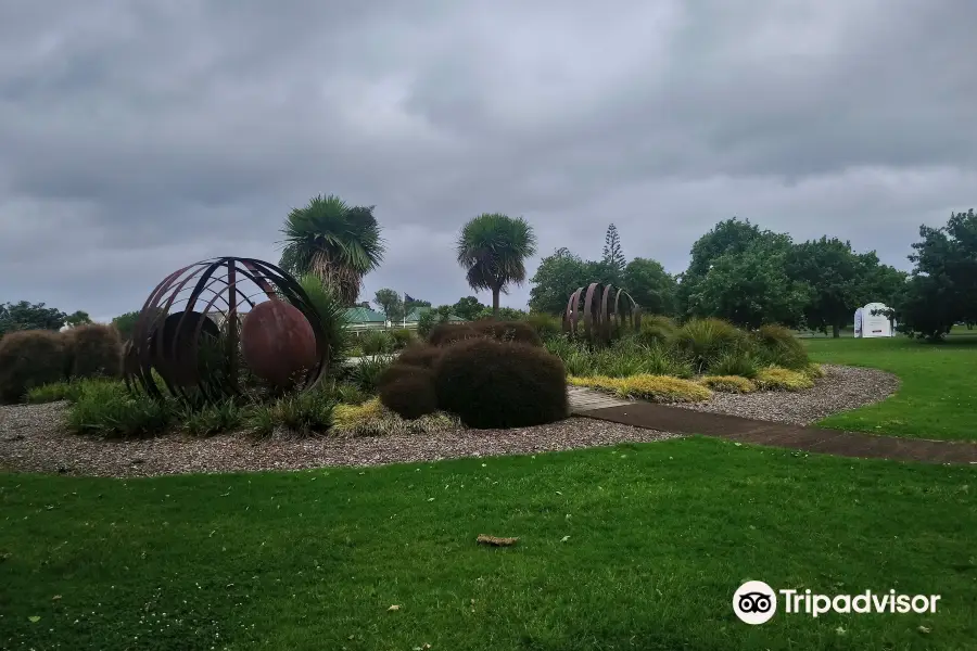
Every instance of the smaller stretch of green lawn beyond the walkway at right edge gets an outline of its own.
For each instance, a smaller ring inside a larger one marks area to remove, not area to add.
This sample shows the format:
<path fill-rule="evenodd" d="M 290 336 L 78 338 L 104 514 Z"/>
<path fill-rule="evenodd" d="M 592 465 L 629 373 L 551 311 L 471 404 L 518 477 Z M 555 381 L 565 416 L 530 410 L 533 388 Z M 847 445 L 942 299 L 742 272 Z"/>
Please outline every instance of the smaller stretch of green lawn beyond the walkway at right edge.
<path fill-rule="evenodd" d="M 942 344 L 905 337 L 816 339 L 814 361 L 874 367 L 902 380 L 891 398 L 828 417 L 838 430 L 919 438 L 977 439 L 977 336 L 953 334 Z"/>

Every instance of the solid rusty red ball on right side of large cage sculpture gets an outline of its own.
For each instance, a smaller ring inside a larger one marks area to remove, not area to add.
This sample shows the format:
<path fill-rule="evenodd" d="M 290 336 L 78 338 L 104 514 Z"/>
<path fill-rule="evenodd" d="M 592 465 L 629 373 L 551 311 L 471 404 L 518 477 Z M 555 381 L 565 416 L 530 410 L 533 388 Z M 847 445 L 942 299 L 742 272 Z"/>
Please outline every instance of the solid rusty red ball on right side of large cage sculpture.
<path fill-rule="evenodd" d="M 251 371 L 290 386 L 316 366 L 316 334 L 299 308 L 282 301 L 261 303 L 241 323 L 241 353 Z"/>

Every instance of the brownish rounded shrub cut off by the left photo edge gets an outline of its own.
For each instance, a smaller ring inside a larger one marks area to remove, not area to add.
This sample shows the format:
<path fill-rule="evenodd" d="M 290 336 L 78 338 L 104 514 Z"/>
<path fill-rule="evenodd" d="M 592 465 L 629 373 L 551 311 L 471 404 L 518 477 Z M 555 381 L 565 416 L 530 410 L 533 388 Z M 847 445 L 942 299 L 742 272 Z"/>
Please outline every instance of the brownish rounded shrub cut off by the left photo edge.
<path fill-rule="evenodd" d="M 17 403 L 28 391 L 60 382 L 67 369 L 65 337 L 50 330 L 22 330 L 0 340 L 0 401 Z"/>

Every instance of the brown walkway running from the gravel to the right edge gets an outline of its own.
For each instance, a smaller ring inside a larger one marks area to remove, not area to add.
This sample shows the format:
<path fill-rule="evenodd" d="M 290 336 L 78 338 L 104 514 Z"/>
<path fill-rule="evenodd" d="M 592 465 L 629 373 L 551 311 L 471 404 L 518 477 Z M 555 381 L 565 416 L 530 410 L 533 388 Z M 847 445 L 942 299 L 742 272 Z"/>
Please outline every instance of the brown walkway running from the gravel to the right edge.
<path fill-rule="evenodd" d="M 855 459 L 977 465 L 977 443 L 970 442 L 928 441 L 823 430 L 640 401 L 599 409 L 579 409 L 574 411 L 574 416 L 645 430 L 701 434 L 738 443 Z"/>

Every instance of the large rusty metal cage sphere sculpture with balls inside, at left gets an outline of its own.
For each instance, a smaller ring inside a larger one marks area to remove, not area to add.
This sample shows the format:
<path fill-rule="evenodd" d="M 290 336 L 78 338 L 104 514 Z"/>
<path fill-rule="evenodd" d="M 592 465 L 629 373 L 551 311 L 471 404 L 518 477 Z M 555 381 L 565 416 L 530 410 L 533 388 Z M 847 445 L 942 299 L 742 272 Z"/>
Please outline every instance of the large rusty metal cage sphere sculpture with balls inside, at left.
<path fill-rule="evenodd" d="M 242 393 L 241 373 L 302 391 L 326 371 L 323 324 L 279 267 L 219 257 L 174 271 L 150 294 L 126 348 L 125 378 L 155 398 L 215 401 Z"/>

